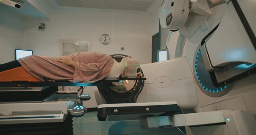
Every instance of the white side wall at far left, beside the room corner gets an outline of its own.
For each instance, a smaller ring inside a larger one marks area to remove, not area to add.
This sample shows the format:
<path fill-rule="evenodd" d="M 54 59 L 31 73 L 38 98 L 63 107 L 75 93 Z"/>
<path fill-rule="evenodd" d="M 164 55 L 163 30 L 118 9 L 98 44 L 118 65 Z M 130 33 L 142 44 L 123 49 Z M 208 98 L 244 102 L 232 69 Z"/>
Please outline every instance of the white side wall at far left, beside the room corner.
<path fill-rule="evenodd" d="M 15 60 L 14 50 L 20 48 L 21 31 L 21 18 L 0 8 L 0 64 Z"/>

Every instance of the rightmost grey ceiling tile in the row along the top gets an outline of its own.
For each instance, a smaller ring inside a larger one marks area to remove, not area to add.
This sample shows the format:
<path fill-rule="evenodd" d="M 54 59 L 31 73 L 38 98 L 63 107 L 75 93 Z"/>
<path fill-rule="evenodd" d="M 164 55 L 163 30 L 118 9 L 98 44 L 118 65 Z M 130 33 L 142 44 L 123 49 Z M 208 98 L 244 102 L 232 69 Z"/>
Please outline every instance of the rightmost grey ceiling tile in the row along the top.
<path fill-rule="evenodd" d="M 152 3 L 129 1 L 126 10 L 147 11 Z"/>

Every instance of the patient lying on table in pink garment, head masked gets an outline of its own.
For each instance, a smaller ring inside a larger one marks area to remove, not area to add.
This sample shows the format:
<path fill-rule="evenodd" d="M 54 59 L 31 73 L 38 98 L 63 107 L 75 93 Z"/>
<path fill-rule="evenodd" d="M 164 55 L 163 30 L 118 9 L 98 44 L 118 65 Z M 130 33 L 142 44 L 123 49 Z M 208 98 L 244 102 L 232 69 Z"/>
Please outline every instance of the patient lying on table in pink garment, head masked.
<path fill-rule="evenodd" d="M 0 65 L 1 73 L 23 67 L 40 81 L 69 80 L 74 83 L 93 83 L 104 77 L 137 76 L 139 62 L 123 58 L 120 63 L 108 55 L 97 52 L 79 52 L 56 57 L 28 56 Z M 139 70 L 138 70 L 139 71 Z M 1 79 L 0 79 L 1 81 Z"/>

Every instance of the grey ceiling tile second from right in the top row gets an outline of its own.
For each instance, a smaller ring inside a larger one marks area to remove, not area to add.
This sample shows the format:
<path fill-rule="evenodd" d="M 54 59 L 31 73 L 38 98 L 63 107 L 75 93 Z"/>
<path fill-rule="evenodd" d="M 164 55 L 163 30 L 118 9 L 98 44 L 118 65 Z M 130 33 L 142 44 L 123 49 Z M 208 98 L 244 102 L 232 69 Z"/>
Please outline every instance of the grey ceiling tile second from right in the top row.
<path fill-rule="evenodd" d="M 125 10 L 129 0 L 105 0 L 105 9 Z"/>

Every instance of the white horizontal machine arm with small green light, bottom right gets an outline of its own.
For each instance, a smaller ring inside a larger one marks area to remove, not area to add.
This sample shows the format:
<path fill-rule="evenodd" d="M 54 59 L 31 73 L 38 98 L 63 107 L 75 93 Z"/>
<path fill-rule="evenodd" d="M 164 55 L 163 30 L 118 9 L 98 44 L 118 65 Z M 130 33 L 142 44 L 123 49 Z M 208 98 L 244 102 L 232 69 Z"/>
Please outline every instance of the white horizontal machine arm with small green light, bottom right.
<path fill-rule="evenodd" d="M 214 118 L 214 119 L 213 119 Z M 256 120 L 253 113 L 243 110 L 221 110 L 173 116 L 147 117 L 142 126 L 190 126 L 193 135 L 255 135 Z"/>

